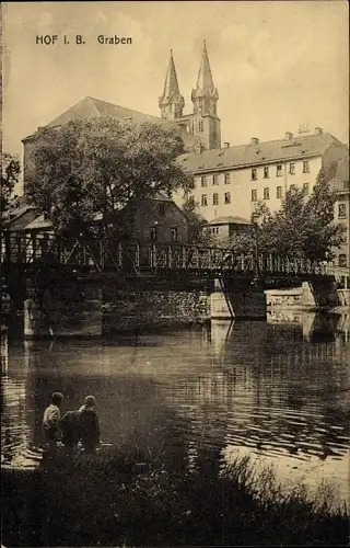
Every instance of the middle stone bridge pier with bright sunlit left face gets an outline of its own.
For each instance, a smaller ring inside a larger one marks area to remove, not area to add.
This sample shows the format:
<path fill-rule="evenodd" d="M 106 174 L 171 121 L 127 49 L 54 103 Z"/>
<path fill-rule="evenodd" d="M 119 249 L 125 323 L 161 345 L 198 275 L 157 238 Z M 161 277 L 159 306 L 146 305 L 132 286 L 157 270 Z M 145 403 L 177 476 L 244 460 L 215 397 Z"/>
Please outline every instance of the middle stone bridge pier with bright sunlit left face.
<path fill-rule="evenodd" d="M 266 318 L 266 296 L 249 283 L 215 279 L 210 296 L 211 318 L 248 320 Z"/>

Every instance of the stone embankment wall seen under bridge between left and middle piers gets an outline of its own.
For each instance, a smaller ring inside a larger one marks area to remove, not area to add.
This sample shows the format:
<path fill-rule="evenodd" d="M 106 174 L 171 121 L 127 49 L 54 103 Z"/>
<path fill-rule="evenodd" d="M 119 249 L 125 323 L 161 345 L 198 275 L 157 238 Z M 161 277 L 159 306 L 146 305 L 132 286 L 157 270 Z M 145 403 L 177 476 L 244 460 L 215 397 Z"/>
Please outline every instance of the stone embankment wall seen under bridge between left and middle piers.
<path fill-rule="evenodd" d="M 126 292 L 105 296 L 103 332 L 138 331 L 203 323 L 210 319 L 205 292 Z"/>

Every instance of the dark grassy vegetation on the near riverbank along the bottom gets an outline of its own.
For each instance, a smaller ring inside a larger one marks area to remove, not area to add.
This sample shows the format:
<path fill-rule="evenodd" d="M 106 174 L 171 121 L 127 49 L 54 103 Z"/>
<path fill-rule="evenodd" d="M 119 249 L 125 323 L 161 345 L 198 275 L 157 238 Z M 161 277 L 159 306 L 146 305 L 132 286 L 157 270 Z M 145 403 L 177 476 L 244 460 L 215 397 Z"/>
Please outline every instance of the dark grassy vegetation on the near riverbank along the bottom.
<path fill-rule="evenodd" d="M 331 484 L 312 495 L 248 458 L 223 469 L 208 447 L 195 460 L 180 442 L 132 447 L 3 470 L 3 545 L 348 546 L 349 509 Z"/>

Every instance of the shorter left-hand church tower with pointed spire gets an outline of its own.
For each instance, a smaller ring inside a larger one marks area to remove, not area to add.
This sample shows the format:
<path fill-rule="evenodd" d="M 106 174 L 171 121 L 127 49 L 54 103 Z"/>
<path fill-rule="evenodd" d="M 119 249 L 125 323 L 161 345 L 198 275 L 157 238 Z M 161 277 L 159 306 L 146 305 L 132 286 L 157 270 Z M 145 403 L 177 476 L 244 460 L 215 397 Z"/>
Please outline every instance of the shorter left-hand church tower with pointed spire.
<path fill-rule="evenodd" d="M 167 72 L 165 77 L 163 95 L 159 100 L 162 118 L 176 119 L 183 116 L 185 100 L 180 95 L 177 83 L 175 64 L 173 59 L 173 50 L 171 49 L 171 58 L 168 61 Z"/>

